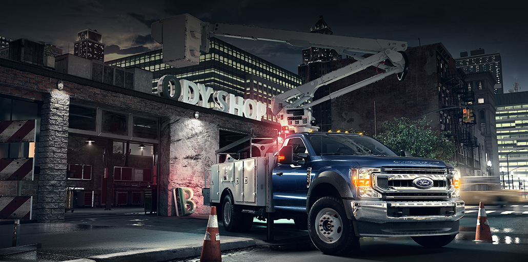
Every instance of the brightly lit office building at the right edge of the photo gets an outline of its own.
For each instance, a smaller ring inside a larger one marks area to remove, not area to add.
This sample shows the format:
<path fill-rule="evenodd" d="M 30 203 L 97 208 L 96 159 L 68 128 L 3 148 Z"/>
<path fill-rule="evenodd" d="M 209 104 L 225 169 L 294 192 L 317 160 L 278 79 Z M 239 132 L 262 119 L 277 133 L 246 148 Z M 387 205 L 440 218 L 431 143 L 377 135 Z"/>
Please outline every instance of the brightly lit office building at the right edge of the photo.
<path fill-rule="evenodd" d="M 505 188 L 525 187 L 528 182 L 528 92 L 497 94 L 495 106 L 501 182 Z"/>

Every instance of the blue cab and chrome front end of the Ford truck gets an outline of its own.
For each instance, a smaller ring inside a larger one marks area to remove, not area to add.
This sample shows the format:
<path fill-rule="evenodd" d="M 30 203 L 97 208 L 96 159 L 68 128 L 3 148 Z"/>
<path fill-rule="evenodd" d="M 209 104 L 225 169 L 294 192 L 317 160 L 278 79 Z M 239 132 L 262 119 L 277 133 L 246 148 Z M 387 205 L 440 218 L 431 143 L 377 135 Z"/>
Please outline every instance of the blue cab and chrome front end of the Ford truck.
<path fill-rule="evenodd" d="M 464 201 L 458 174 L 444 161 L 400 157 L 373 138 L 327 132 L 290 135 L 278 159 L 274 208 L 307 214 L 310 237 L 325 250 L 346 234 L 444 246 L 458 233 Z"/>

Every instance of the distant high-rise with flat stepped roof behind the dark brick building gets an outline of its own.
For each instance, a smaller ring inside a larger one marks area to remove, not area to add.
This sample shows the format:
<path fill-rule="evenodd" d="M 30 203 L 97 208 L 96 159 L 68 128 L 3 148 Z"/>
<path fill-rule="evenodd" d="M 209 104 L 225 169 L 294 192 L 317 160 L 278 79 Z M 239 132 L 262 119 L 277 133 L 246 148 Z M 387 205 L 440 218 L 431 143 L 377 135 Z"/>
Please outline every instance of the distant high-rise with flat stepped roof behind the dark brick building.
<path fill-rule="evenodd" d="M 461 52 L 460 58 L 455 59 L 457 68 L 469 73 L 491 72 L 495 77 L 495 93 L 504 93 L 502 85 L 501 54 L 498 52 L 486 54 L 484 49 Z"/>

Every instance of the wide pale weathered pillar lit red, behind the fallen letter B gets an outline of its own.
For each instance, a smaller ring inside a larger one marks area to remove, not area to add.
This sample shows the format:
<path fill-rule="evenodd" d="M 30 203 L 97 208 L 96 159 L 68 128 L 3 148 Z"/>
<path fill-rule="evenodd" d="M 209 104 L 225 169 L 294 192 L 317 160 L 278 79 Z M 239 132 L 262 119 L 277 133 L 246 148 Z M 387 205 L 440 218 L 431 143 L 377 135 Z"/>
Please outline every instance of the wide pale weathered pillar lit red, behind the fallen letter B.
<path fill-rule="evenodd" d="M 160 173 L 159 215 L 175 216 L 172 188 L 193 190 L 194 214 L 209 214 L 203 206 L 204 172 L 216 163 L 219 149 L 218 124 L 193 118 L 171 117 L 161 123 L 161 146 L 158 158 Z"/>

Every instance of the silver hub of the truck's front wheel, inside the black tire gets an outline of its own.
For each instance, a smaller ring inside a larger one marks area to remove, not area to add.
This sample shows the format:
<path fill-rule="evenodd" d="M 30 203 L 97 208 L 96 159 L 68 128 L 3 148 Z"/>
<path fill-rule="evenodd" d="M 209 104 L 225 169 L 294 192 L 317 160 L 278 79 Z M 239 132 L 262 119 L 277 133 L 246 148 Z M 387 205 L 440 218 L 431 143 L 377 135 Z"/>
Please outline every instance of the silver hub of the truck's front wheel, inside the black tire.
<path fill-rule="evenodd" d="M 327 244 L 336 242 L 343 234 L 343 221 L 332 208 L 324 208 L 317 214 L 317 236 Z"/>

